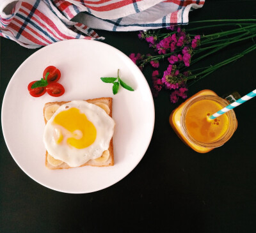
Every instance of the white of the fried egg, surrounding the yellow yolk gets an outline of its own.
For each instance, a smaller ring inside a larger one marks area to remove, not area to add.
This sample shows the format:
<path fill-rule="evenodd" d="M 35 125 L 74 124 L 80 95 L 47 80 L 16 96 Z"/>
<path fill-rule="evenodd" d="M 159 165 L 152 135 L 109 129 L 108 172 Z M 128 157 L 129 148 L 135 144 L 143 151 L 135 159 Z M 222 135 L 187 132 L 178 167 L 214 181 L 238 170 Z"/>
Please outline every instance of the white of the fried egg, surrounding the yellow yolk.
<path fill-rule="evenodd" d="M 67 106 L 68 108 L 66 109 Z M 54 139 L 54 130 L 56 131 L 56 127 L 52 124 L 54 117 L 71 107 L 76 107 L 81 113 L 85 114 L 97 130 L 97 136 L 93 144 L 83 149 L 77 149 L 67 144 L 67 138 L 70 137 L 70 132 L 67 132 L 67 130 L 61 130 L 63 134 L 63 142 L 61 144 L 57 144 Z M 44 130 L 45 148 L 56 160 L 61 160 L 70 167 L 79 167 L 88 162 L 88 160 L 99 158 L 103 151 L 109 148 L 109 142 L 113 137 L 114 128 L 115 121 L 97 105 L 83 100 L 70 101 L 61 105 L 47 122 Z"/>

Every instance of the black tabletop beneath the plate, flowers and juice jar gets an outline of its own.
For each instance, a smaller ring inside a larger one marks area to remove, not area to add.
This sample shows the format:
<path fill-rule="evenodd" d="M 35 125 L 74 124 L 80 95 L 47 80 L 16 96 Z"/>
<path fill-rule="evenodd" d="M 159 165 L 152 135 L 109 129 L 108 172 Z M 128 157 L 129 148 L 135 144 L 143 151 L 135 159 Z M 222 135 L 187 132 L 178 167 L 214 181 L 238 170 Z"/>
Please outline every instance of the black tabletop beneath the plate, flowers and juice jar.
<path fill-rule="evenodd" d="M 207 0 L 189 20 L 250 19 L 255 9 L 256 1 Z M 97 33 L 127 55 L 148 52 L 137 32 Z M 1 102 L 13 73 L 35 51 L 1 38 Z M 202 89 L 220 96 L 253 91 L 255 57 L 253 51 L 220 68 L 188 95 Z M 151 71 L 144 73 L 150 86 Z M 61 193 L 36 183 L 14 162 L 1 132 L 0 232 L 256 232 L 256 98 L 236 108 L 233 137 L 206 154 L 185 146 L 173 132 L 168 117 L 178 104 L 171 105 L 167 93 L 154 103 L 156 123 L 145 156 L 124 179 L 94 193 Z"/>

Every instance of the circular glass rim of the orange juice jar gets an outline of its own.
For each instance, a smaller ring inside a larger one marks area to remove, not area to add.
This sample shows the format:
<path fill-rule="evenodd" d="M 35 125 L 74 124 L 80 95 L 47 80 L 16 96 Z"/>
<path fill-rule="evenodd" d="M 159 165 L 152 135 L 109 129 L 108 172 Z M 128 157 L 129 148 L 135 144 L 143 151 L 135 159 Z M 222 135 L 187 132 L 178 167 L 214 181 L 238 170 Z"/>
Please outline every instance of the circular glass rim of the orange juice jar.
<path fill-rule="evenodd" d="M 234 132 L 236 131 L 236 127 L 237 127 L 236 114 L 235 114 L 234 110 L 230 110 L 230 111 L 225 113 L 225 114 L 227 114 L 227 117 L 228 117 L 229 126 L 228 126 L 227 130 L 225 131 L 225 133 L 223 133 L 223 135 L 221 135 L 221 137 L 219 137 L 218 139 L 216 139 L 212 142 L 200 142 L 200 141 L 194 139 L 188 133 L 188 128 L 186 126 L 186 114 L 188 113 L 189 107 L 191 107 L 194 103 L 196 103 L 197 101 L 200 101 L 200 100 L 216 101 L 221 106 L 223 106 L 223 108 L 227 107 L 227 105 L 229 104 L 227 100 L 221 98 L 220 96 L 214 96 L 214 95 L 209 95 L 209 94 L 202 95 L 202 96 L 195 96 L 194 98 L 189 100 L 188 103 L 186 103 L 186 105 L 182 109 L 181 117 L 180 117 L 180 124 L 181 124 L 182 133 L 184 134 L 186 139 L 188 139 L 193 144 L 196 144 L 197 146 L 207 147 L 207 148 L 220 147 L 223 144 L 225 144 L 225 142 L 227 142 L 232 137 Z M 234 124 L 232 124 L 232 122 L 234 122 Z"/>

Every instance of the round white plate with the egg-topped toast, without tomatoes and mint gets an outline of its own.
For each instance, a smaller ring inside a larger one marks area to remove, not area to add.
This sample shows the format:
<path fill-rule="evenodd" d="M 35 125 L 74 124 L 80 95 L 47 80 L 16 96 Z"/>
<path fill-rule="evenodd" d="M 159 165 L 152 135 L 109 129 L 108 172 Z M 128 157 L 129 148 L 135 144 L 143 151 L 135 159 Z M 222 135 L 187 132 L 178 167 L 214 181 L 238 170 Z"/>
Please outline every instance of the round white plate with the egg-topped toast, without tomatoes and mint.
<path fill-rule="evenodd" d="M 49 66 L 60 70 L 58 81 L 51 79 L 63 93 L 32 96 L 28 84 L 44 83 Z M 100 79 L 117 73 L 134 91 L 123 84 L 114 94 L 113 84 Z M 96 192 L 127 176 L 147 151 L 154 120 L 152 93 L 140 69 L 93 40 L 56 42 L 28 57 L 6 88 L 1 114 L 4 140 L 20 169 L 65 193 Z"/>

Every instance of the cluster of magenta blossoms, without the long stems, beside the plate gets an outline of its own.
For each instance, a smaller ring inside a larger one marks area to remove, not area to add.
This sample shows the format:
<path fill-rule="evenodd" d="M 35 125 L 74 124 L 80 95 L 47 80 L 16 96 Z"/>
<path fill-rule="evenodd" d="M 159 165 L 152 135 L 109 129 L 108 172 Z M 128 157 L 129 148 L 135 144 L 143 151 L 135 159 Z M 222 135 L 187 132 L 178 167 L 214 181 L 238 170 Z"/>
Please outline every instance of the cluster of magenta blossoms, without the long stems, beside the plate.
<path fill-rule="evenodd" d="M 186 98 L 186 73 L 179 71 L 182 66 L 189 66 L 193 50 L 200 44 L 200 36 L 195 36 L 193 40 L 180 27 L 168 27 L 172 30 L 167 36 L 161 38 L 157 34 L 152 35 L 147 32 L 140 31 L 138 37 L 148 42 L 150 48 L 159 54 L 159 56 L 167 57 L 170 65 L 163 72 L 161 77 L 158 70 L 152 73 L 152 94 L 157 97 L 159 91 L 163 88 L 171 91 L 170 100 L 175 103 L 179 97 Z M 175 31 L 176 29 L 176 31 Z M 159 68 L 159 57 L 151 54 L 141 56 L 141 54 L 130 54 L 132 61 L 137 64 L 141 70 L 145 64 L 150 63 L 152 67 Z"/>

